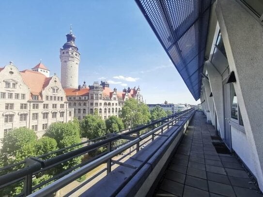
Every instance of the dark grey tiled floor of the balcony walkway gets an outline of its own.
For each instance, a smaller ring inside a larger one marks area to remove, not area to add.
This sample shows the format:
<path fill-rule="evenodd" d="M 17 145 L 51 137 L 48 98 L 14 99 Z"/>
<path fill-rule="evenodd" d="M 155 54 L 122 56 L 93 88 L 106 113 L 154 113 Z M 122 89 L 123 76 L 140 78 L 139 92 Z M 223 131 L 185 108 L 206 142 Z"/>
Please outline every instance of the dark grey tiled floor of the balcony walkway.
<path fill-rule="evenodd" d="M 196 112 L 159 183 L 159 197 L 263 197 L 231 154 L 218 154 L 215 129 Z"/>

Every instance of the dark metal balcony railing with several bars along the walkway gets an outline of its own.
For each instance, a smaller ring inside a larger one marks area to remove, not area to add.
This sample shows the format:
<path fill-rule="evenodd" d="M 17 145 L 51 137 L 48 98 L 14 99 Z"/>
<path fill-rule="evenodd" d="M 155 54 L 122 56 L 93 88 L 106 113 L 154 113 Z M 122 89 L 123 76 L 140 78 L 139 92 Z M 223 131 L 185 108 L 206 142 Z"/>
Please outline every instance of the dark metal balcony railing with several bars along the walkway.
<path fill-rule="evenodd" d="M 178 126 L 177 123 L 180 120 L 189 117 L 194 111 L 195 109 L 188 109 L 128 130 L 108 134 L 107 136 L 88 140 L 38 157 L 26 158 L 22 162 L 0 168 L 0 189 L 20 182 L 23 190 L 18 196 L 27 196 L 31 193 L 33 193 L 31 196 L 46 196 L 60 190 L 101 164 L 107 164 L 107 167 L 104 167 L 84 183 L 80 184 L 80 186 L 83 186 L 93 181 L 93 179 L 102 173 L 106 173 L 106 171 L 107 174 L 109 174 L 114 165 L 125 166 L 121 160 L 124 158 L 128 159 L 131 154 L 139 152 L 140 147 L 144 147 L 149 142 L 158 138 L 158 136 L 162 136 L 163 132 L 167 131 L 171 126 Z M 115 142 L 120 142 L 120 140 L 121 143 L 116 145 Z M 96 151 L 101 147 L 105 147 L 106 151 L 95 155 L 93 158 L 79 165 L 65 169 L 58 174 L 55 173 L 51 178 L 37 185 L 32 184 L 35 177 L 40 177 L 50 172 L 50 170 L 56 169 L 56 167 L 62 167 L 61 165 L 66 162 L 87 155 L 87 153 Z M 133 149 L 132 147 L 135 148 Z M 122 156 L 115 159 L 115 157 L 120 154 L 122 154 Z M 79 187 L 73 189 L 70 194 L 73 194 Z"/>

